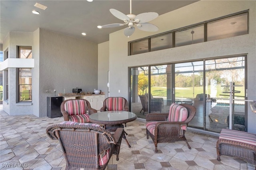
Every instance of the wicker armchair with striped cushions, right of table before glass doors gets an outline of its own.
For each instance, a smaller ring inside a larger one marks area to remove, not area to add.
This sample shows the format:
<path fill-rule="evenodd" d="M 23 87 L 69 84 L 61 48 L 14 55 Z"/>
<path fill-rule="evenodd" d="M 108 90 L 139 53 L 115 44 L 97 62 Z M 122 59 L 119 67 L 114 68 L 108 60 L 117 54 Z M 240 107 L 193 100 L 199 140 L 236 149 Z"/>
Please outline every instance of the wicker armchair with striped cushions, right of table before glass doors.
<path fill-rule="evenodd" d="M 191 149 L 185 132 L 188 123 L 195 114 L 196 108 L 192 105 L 172 103 L 169 113 L 149 113 L 146 115 L 147 139 L 148 136 L 152 138 L 155 152 L 158 152 L 157 144 L 163 142 L 186 141 L 188 148 Z"/>

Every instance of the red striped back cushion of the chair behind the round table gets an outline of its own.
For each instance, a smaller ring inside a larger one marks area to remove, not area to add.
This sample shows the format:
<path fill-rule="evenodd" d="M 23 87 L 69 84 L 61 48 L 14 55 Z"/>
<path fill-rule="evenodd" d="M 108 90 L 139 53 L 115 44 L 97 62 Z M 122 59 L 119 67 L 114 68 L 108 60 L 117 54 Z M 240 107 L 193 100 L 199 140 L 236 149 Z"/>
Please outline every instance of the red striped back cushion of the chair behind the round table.
<path fill-rule="evenodd" d="M 106 100 L 107 111 L 123 111 L 125 100 L 122 97 L 110 97 Z"/>

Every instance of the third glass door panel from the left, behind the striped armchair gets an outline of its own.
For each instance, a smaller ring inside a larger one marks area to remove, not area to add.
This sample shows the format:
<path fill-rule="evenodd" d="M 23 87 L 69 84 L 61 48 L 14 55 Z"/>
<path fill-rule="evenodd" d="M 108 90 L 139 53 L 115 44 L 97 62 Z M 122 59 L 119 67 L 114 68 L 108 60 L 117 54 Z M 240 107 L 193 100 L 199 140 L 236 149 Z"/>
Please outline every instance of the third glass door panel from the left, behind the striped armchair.
<path fill-rule="evenodd" d="M 204 127 L 204 62 L 194 61 L 175 64 L 175 100 L 196 107 L 196 116 L 189 123 L 193 127 Z"/>

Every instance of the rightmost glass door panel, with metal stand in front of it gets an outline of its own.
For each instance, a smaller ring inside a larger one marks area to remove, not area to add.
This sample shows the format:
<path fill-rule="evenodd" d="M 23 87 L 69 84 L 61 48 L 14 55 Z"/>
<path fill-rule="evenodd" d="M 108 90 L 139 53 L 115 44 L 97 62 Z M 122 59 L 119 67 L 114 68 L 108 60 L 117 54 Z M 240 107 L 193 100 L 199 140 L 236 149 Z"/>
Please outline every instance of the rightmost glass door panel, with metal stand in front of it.
<path fill-rule="evenodd" d="M 206 128 L 220 132 L 229 128 L 232 109 L 232 129 L 245 131 L 245 102 L 232 101 L 230 108 L 230 82 L 232 99 L 245 100 L 245 56 L 213 59 L 205 62 L 206 92 L 210 111 L 206 112 Z M 207 103 L 207 102 L 206 102 Z"/>

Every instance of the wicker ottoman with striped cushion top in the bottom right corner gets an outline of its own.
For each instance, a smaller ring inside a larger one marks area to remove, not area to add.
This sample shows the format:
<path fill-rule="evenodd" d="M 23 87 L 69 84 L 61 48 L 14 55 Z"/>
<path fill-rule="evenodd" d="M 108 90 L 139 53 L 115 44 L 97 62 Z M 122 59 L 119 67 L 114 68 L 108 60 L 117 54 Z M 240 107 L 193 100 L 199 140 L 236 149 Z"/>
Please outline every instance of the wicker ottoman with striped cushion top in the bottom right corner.
<path fill-rule="evenodd" d="M 217 141 L 217 160 L 220 155 L 242 158 L 256 165 L 256 134 L 222 129 Z"/>

